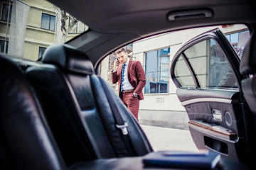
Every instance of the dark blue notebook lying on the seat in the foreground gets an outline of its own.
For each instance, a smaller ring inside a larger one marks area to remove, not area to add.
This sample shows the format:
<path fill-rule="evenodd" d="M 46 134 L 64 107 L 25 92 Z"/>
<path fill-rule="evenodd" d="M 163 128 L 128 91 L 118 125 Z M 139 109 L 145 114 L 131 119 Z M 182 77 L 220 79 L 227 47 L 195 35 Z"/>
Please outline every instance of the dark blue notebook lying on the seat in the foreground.
<path fill-rule="evenodd" d="M 201 152 L 158 151 L 146 154 L 145 166 L 180 168 L 180 169 L 214 169 L 220 160 L 220 154 L 203 150 Z"/>

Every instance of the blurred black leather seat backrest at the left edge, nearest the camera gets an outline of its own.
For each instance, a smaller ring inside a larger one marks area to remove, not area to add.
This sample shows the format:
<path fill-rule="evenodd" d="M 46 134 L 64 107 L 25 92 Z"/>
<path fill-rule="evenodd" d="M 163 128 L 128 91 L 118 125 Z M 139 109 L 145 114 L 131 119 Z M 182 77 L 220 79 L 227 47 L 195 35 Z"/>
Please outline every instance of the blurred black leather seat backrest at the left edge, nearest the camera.
<path fill-rule="evenodd" d="M 1 55 L 0 82 L 0 169 L 65 169 L 26 77 Z"/>

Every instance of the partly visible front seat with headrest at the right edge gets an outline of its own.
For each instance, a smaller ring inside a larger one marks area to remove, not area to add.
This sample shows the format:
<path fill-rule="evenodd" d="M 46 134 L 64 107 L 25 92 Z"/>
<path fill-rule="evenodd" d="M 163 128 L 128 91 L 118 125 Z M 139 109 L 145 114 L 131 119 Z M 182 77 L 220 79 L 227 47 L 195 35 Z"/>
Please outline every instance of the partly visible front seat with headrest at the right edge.
<path fill-rule="evenodd" d="M 256 113 L 256 34 L 253 33 L 245 45 L 240 62 L 240 73 L 247 78 L 242 80 L 242 93 L 250 110 Z"/>

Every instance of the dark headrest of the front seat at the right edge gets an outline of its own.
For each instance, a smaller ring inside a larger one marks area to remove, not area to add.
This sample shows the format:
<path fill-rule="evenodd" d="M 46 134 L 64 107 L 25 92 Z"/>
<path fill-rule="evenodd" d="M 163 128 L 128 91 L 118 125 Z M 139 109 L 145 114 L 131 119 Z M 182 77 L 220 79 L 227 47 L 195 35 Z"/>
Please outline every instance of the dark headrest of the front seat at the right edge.
<path fill-rule="evenodd" d="M 253 33 L 245 45 L 240 62 L 241 74 L 256 73 L 256 34 Z"/>

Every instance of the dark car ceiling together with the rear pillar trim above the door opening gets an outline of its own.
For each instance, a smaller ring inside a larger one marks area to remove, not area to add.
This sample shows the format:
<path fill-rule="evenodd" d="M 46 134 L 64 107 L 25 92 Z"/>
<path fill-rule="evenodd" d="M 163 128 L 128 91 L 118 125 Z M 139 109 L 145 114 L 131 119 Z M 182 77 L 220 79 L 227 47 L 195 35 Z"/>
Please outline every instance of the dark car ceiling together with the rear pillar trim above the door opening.
<path fill-rule="evenodd" d="M 86 52 L 94 65 L 118 47 L 158 33 L 228 23 L 256 23 L 256 3 L 251 0 L 50 1 L 89 26 L 90 31 L 67 43 Z M 167 18 L 171 11 L 206 8 L 213 11 L 213 17 L 178 21 Z"/>

